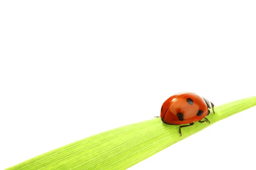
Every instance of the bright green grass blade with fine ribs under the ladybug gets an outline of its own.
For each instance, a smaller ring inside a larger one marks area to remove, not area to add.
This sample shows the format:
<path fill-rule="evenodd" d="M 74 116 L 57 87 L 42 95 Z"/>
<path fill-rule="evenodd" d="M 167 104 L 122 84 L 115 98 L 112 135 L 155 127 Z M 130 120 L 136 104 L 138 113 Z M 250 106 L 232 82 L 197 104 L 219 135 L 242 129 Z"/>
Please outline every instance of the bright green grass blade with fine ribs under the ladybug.
<path fill-rule="evenodd" d="M 125 170 L 200 130 L 256 105 L 256 96 L 215 107 L 208 123 L 183 128 L 151 119 L 90 136 L 24 161 L 7 170 Z"/>

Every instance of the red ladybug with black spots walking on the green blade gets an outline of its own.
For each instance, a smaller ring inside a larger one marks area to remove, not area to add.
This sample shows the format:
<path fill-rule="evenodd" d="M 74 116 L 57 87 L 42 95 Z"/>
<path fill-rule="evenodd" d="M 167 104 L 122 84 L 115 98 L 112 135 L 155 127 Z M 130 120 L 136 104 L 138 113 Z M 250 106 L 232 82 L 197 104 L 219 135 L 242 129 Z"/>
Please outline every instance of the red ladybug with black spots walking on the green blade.
<path fill-rule="evenodd" d="M 210 123 L 206 116 L 209 115 L 210 109 L 215 114 L 213 108 L 213 103 L 204 97 L 192 92 L 182 92 L 172 95 L 163 103 L 160 118 L 164 124 L 181 125 L 180 128 L 192 126 L 194 122 Z M 182 136 L 181 129 L 179 132 Z"/>

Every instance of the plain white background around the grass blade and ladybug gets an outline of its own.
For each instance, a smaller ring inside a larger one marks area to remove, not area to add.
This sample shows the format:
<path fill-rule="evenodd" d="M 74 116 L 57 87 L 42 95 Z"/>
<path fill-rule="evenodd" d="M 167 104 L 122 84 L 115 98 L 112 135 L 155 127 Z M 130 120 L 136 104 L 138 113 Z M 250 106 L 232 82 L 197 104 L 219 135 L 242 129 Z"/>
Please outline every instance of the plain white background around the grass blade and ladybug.
<path fill-rule="evenodd" d="M 0 169 L 160 114 L 256 95 L 255 1 L 1 1 Z M 256 108 L 131 167 L 256 168 Z"/>

